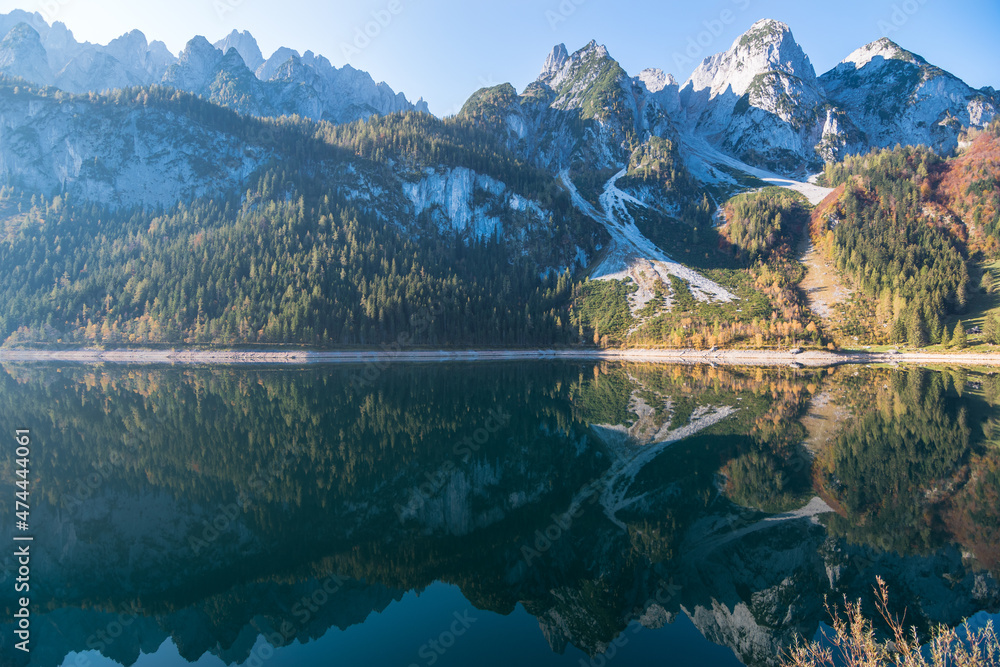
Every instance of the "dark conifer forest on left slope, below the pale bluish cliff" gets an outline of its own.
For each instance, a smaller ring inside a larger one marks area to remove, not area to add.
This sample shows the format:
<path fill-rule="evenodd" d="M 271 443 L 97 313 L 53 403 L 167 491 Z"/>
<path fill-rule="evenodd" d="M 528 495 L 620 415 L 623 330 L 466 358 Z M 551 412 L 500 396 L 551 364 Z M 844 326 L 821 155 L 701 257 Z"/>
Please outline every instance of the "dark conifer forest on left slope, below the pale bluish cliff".
<path fill-rule="evenodd" d="M 550 344 L 576 340 L 568 273 L 498 240 L 405 236 L 294 172 L 247 197 L 163 213 L 8 190 L 0 331 L 9 342 Z M 402 338 L 401 338 L 402 337 Z"/>

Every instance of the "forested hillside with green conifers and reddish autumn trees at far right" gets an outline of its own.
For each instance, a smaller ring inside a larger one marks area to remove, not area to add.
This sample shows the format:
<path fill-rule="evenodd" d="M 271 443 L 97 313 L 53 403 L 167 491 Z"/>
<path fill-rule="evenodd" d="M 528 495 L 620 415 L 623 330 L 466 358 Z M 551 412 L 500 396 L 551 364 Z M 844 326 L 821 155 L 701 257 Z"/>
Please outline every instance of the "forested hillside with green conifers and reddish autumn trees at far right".
<path fill-rule="evenodd" d="M 827 165 L 837 196 L 816 209 L 812 234 L 857 288 L 849 332 L 914 346 L 949 343 L 946 320 L 978 291 L 979 260 L 995 256 L 1000 123 L 957 158 L 896 147 Z"/>

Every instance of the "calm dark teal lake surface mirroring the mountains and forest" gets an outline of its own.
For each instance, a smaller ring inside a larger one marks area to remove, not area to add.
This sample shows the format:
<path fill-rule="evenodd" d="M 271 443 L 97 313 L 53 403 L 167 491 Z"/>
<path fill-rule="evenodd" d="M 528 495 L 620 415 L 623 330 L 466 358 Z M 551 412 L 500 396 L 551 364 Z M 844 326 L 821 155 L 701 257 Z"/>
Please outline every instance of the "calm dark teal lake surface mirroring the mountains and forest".
<path fill-rule="evenodd" d="M 768 665 L 876 576 L 983 622 L 998 406 L 966 369 L 8 365 L 0 663 Z"/>

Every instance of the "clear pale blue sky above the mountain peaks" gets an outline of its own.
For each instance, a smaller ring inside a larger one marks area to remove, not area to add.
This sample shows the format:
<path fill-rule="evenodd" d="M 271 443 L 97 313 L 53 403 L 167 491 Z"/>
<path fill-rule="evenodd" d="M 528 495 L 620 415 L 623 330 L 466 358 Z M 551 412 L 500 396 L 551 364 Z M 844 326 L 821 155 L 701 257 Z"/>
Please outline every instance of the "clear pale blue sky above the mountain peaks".
<path fill-rule="evenodd" d="M 265 57 L 288 46 L 350 62 L 438 115 L 484 85 L 521 90 L 560 42 L 573 51 L 596 39 L 631 74 L 660 67 L 683 81 L 760 18 L 791 26 L 817 73 L 888 36 L 976 88 L 1000 88 L 998 0 L 0 0 L 14 8 L 62 21 L 80 41 L 138 28 L 175 54 L 196 34 L 249 30 Z M 380 13 L 384 27 L 355 44 Z"/>

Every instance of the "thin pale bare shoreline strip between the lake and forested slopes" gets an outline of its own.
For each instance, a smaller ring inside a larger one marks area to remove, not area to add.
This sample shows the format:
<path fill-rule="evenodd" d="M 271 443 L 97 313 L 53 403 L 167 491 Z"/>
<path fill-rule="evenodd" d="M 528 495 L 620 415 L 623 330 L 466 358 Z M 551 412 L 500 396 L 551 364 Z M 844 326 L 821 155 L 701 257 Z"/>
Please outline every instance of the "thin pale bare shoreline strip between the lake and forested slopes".
<path fill-rule="evenodd" d="M 152 350 L 152 349 L 75 349 L 75 350 L 0 350 L 0 362 L 70 362 L 80 364 L 369 364 L 391 362 L 448 361 L 631 361 L 637 363 L 711 364 L 729 366 L 793 366 L 821 368 L 842 364 L 930 364 L 953 363 L 977 366 L 1000 366 L 1000 353 L 924 353 L 924 352 L 828 352 L 806 350 L 793 353 L 776 350 L 694 350 L 694 349 L 616 349 L 616 350 L 368 350 L 368 351 L 247 351 L 247 350 Z"/>

